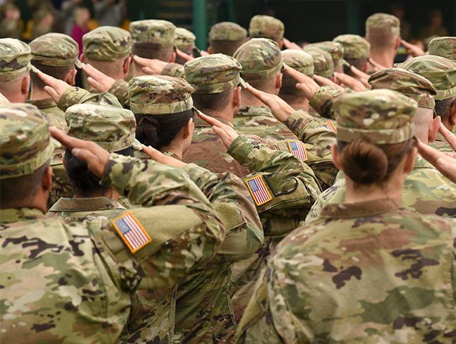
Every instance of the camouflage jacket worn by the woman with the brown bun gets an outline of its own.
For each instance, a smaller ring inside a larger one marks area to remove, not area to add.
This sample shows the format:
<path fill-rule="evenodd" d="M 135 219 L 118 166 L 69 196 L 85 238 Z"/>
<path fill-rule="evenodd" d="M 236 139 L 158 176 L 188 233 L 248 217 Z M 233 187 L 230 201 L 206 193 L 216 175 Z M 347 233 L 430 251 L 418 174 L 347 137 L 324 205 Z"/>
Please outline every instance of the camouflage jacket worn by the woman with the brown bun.
<path fill-rule="evenodd" d="M 396 199 L 329 204 L 277 246 L 237 343 L 454 343 L 455 225 Z"/>

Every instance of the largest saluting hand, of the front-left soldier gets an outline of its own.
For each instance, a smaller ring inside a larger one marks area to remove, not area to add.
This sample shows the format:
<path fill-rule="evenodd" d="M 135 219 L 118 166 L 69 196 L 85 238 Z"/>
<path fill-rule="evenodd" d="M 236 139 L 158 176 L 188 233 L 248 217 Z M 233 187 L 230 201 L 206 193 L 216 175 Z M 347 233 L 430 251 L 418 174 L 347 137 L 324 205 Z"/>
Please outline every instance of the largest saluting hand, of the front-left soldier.
<path fill-rule="evenodd" d="M 109 152 L 92 141 L 79 140 L 66 135 L 63 131 L 49 127 L 52 137 L 62 146 L 71 150 L 76 158 L 85 161 L 95 176 L 102 178 L 104 168 L 109 160 Z"/>

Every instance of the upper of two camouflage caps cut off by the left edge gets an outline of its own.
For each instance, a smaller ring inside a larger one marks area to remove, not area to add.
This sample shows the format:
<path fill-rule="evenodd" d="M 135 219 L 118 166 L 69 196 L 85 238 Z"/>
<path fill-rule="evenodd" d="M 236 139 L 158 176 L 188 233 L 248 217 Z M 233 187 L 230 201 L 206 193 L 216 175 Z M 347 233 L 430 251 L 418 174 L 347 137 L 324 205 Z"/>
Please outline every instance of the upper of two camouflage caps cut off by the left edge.
<path fill-rule="evenodd" d="M 13 80 L 36 68 L 30 63 L 32 51 L 19 39 L 0 39 L 0 82 Z"/>

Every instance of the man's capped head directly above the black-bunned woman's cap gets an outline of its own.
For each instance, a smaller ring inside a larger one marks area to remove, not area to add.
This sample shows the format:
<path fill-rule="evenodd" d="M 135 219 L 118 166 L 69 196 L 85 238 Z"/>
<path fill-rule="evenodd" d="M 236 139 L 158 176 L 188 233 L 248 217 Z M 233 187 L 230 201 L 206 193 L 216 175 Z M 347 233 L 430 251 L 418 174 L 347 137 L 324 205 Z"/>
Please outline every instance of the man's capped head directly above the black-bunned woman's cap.
<path fill-rule="evenodd" d="M 145 59 L 174 62 L 174 32 L 176 27 L 167 20 L 138 20 L 130 23 L 133 42 L 131 52 Z M 145 75 L 136 61 L 133 61 L 133 76 Z"/>

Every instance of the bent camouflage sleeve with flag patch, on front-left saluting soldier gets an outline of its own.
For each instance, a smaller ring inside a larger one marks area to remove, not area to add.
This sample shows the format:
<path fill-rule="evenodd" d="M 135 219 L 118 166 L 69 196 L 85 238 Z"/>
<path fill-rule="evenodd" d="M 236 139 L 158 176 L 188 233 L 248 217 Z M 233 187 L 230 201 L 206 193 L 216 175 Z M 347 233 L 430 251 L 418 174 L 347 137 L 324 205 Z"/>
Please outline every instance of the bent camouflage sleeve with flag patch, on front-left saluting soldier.
<path fill-rule="evenodd" d="M 224 226 L 181 168 L 111 154 L 101 183 L 143 205 L 108 223 L 99 240 L 123 288 L 167 288 L 220 249 Z"/>

